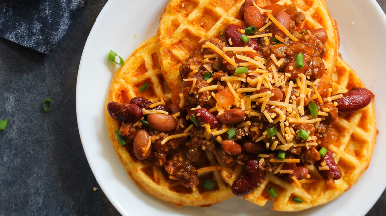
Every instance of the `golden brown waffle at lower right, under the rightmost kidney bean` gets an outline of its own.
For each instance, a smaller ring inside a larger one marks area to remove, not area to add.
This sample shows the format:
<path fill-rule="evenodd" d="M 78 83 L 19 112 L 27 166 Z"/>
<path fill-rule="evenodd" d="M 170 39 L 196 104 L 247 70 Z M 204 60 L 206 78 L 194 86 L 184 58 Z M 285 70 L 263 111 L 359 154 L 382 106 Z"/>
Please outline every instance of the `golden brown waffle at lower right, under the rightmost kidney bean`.
<path fill-rule="evenodd" d="M 353 87 L 364 87 L 356 72 L 340 57 L 337 58 L 336 71 L 332 74 L 332 89 L 335 94 L 345 93 Z M 335 161 L 342 171 L 342 178 L 335 180 L 335 184 L 327 184 L 315 166 L 307 166 L 310 180 L 313 183 L 289 183 L 269 173 L 264 183 L 244 198 L 252 203 L 263 206 L 272 199 L 267 188 L 273 187 L 278 197 L 273 199 L 273 209 L 278 211 L 300 211 L 321 205 L 340 196 L 354 185 L 367 169 L 376 141 L 376 121 L 374 105 L 355 112 L 339 112 L 340 122 L 334 125 L 338 132 L 338 140 L 329 146 L 335 153 Z M 302 180 L 300 180 L 302 182 Z M 293 202 L 292 198 L 303 199 L 301 204 Z"/>

